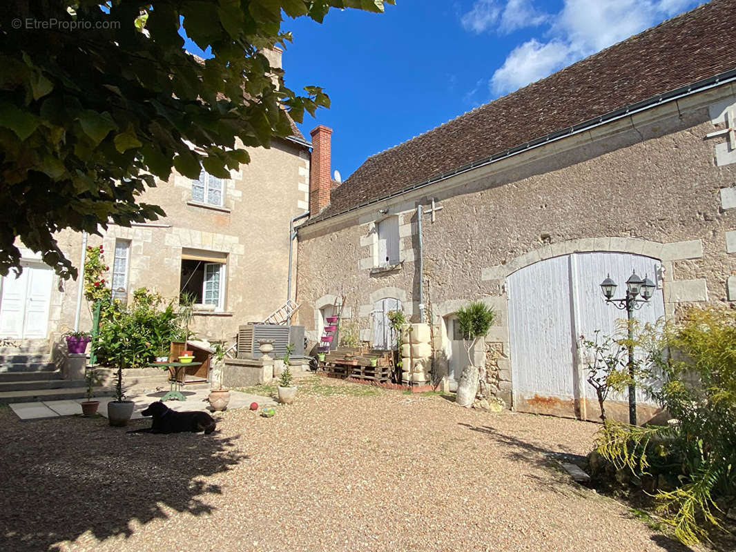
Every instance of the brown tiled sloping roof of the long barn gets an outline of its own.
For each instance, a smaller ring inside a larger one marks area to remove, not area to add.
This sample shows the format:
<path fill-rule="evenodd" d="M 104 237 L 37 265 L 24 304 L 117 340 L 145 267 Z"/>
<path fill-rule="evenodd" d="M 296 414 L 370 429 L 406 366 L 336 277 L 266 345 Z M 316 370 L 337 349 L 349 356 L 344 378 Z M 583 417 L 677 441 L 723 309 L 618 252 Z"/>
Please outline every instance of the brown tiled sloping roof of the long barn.
<path fill-rule="evenodd" d="M 733 68 L 736 0 L 712 0 L 372 155 L 310 222 Z"/>

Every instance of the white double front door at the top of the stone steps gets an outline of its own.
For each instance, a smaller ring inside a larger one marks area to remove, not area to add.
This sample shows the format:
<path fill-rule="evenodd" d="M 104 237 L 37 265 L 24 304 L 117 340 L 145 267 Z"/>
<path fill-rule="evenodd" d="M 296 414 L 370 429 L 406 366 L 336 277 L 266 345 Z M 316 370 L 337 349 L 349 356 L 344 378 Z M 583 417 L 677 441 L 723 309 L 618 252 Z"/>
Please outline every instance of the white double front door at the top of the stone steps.
<path fill-rule="evenodd" d="M 2 278 L 0 337 L 43 339 L 49 324 L 54 273 L 39 263 L 21 262 L 23 272 Z"/>

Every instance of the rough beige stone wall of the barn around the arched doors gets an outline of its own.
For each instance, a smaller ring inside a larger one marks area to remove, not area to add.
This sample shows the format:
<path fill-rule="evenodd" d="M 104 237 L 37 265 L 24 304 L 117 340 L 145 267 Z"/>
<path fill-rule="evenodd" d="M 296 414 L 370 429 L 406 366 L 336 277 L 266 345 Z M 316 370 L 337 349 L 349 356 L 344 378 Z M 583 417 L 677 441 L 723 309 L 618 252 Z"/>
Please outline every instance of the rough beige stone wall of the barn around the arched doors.
<path fill-rule="evenodd" d="M 489 361 L 498 364 L 492 383 L 506 396 L 504 283 L 523 266 L 577 251 L 630 252 L 662 261 L 667 316 L 736 300 L 736 163 L 721 151 L 736 144 L 706 137 L 725 126 L 729 105 L 736 90 L 723 85 L 300 228 L 300 323 L 315 329 L 314 305 L 327 294 L 358 306 L 365 336 L 376 298 L 402 300 L 417 322 L 416 208 L 433 199 L 442 210 L 422 219 L 421 277 L 436 369 L 447 366 L 445 316 L 481 298 L 499 314 L 486 340 L 500 354 Z M 400 217 L 403 262 L 376 274 L 373 234 L 384 216 Z"/>

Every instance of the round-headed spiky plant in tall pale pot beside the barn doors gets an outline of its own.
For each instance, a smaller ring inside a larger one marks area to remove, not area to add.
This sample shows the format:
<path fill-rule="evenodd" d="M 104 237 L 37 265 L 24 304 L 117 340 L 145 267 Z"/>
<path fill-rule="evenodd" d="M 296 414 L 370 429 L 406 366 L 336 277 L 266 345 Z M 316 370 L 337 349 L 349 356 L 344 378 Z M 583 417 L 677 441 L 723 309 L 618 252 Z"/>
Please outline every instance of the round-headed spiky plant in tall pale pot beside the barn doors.
<path fill-rule="evenodd" d="M 484 302 L 474 301 L 457 311 L 457 316 L 465 339 L 467 360 L 470 364 L 463 369 L 460 375 L 455 402 L 460 406 L 470 408 L 479 390 L 481 398 L 485 398 L 486 394 L 486 367 L 482 363 L 480 367 L 475 366 L 471 351 L 481 339 L 484 339 L 495 321 L 496 314 Z"/>

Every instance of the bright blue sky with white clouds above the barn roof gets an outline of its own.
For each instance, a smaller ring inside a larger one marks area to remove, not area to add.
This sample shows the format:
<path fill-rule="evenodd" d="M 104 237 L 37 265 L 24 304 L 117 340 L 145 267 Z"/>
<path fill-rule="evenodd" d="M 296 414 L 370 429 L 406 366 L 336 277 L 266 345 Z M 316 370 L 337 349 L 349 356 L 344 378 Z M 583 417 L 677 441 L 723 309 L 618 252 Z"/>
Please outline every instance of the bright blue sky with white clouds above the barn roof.
<path fill-rule="evenodd" d="M 300 128 L 333 129 L 346 179 L 366 158 L 546 77 L 698 0 L 397 0 L 386 13 L 333 10 L 323 24 L 287 20 L 293 90 L 332 100 Z"/>

